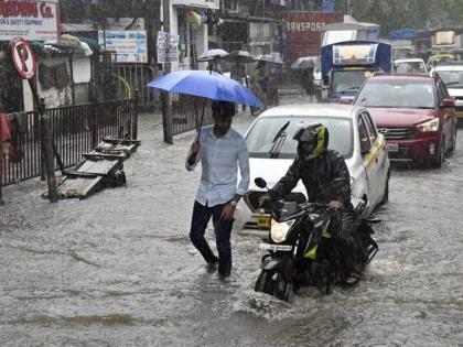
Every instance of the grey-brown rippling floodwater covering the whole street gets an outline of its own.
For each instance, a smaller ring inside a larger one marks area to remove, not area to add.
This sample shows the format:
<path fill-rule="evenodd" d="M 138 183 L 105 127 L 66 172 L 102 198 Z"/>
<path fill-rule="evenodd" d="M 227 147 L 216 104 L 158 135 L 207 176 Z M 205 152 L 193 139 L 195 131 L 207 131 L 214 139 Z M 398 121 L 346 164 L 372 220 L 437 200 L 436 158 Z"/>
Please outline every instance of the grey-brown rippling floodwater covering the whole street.
<path fill-rule="evenodd" d="M 144 116 L 140 137 L 127 187 L 54 205 L 40 181 L 4 188 L 1 346 L 463 346 L 463 134 L 442 170 L 392 171 L 359 285 L 289 304 L 254 292 L 259 239 L 233 235 L 226 282 L 191 246 L 193 134 L 165 145 Z"/>

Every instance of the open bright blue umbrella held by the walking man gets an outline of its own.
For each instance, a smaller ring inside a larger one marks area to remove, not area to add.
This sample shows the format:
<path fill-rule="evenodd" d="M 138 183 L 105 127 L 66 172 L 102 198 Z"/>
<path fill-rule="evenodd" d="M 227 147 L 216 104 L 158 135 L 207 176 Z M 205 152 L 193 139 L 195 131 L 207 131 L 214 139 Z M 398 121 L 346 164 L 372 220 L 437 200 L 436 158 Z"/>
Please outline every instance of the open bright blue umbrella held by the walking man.
<path fill-rule="evenodd" d="M 148 85 L 171 93 L 194 95 L 213 100 L 247 104 L 256 107 L 263 107 L 263 104 L 250 91 L 235 79 L 208 71 L 179 71 L 166 74 L 151 80 Z M 197 138 L 200 139 L 203 124 L 204 108 L 201 115 Z"/>

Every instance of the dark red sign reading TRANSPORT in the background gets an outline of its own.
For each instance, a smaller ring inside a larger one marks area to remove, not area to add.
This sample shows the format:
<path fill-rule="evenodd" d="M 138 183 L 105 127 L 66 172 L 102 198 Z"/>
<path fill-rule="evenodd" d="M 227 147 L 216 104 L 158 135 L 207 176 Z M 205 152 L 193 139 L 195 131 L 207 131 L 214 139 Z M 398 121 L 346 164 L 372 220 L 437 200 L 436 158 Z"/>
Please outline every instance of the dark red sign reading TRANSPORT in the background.
<path fill-rule="evenodd" d="M 286 11 L 281 15 L 287 25 L 289 63 L 301 56 L 320 55 L 323 26 L 343 21 L 342 15 L 334 12 Z"/>

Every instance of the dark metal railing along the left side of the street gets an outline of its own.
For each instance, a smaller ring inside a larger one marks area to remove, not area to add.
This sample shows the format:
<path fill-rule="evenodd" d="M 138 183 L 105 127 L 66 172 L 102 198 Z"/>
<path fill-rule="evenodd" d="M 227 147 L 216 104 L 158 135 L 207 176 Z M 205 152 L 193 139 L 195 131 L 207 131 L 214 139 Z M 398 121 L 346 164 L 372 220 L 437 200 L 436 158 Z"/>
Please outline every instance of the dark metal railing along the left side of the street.
<path fill-rule="evenodd" d="M 95 148 L 104 138 L 137 139 L 137 101 L 105 102 L 52 108 L 46 110 L 53 144 L 64 166 L 82 160 L 82 154 Z M 12 153 L 3 158 L 1 185 L 32 177 L 44 177 L 40 138 L 40 116 L 36 111 L 10 115 Z M 57 167 L 55 159 L 55 169 Z"/>

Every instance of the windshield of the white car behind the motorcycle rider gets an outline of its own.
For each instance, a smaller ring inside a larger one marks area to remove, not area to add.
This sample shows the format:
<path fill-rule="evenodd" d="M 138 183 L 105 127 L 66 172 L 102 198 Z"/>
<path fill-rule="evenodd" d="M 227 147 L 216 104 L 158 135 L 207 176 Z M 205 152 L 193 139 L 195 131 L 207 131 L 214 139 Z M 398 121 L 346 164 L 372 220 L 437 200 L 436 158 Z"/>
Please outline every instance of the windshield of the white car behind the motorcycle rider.
<path fill-rule="evenodd" d="M 246 135 L 250 158 L 269 158 L 272 141 L 288 121 L 286 140 L 279 153 L 280 159 L 293 159 L 297 153 L 298 141 L 292 137 L 303 124 L 323 123 L 330 132 L 329 148 L 340 152 L 345 159 L 352 156 L 353 135 L 352 121 L 345 118 L 332 117 L 262 117 L 256 121 Z"/>

